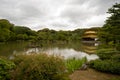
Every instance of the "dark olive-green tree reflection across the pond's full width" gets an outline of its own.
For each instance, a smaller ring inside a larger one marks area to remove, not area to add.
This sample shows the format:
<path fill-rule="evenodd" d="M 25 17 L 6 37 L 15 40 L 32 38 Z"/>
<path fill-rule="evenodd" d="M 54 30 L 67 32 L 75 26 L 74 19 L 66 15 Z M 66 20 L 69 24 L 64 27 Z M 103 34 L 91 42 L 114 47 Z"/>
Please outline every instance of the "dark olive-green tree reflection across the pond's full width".
<path fill-rule="evenodd" d="M 86 53 L 90 53 L 86 50 L 92 51 L 95 50 L 94 44 L 83 44 L 80 41 L 75 42 L 66 42 L 66 41 L 58 41 L 58 42 L 50 42 L 50 41 L 40 41 L 36 43 L 30 43 L 30 42 L 9 42 L 5 44 L 0 44 L 0 55 L 2 56 L 9 56 L 13 53 L 24 53 L 25 51 L 29 50 L 31 47 L 28 47 L 29 45 L 35 45 L 32 46 L 35 52 L 37 52 L 36 49 L 39 50 L 47 50 L 50 48 L 59 48 L 59 49 L 74 49 L 75 51 L 83 51 Z"/>

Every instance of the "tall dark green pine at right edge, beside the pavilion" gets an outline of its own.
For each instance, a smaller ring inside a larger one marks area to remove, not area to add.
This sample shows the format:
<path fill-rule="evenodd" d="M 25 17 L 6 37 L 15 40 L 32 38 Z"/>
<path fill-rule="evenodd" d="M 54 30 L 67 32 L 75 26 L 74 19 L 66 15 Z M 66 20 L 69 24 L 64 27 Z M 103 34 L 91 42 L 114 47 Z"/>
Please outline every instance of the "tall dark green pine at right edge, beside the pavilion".
<path fill-rule="evenodd" d="M 120 42 L 120 4 L 113 5 L 107 13 L 111 16 L 101 28 L 99 36 L 106 43 L 113 41 L 114 44 L 117 44 Z"/>

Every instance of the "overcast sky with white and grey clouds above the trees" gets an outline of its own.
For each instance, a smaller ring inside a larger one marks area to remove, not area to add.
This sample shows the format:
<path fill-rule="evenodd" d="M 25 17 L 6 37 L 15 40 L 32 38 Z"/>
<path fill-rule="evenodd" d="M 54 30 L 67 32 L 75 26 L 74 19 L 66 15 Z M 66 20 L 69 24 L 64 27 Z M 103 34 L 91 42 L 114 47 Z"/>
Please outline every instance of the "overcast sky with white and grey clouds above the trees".
<path fill-rule="evenodd" d="M 34 30 L 100 27 L 120 0 L 0 0 L 0 18 Z"/>

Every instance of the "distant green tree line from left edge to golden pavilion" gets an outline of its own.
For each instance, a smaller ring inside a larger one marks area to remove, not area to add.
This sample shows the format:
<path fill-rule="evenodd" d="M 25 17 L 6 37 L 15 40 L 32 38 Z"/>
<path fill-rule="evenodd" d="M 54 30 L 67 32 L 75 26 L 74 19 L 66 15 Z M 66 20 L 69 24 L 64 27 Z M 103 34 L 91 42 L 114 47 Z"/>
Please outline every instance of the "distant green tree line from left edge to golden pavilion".
<path fill-rule="evenodd" d="M 55 31 L 48 28 L 34 31 L 25 26 L 15 26 L 6 19 L 0 19 L 0 42 L 16 40 L 81 40 L 81 36 L 84 31 L 85 29 L 76 29 L 74 31 Z"/>

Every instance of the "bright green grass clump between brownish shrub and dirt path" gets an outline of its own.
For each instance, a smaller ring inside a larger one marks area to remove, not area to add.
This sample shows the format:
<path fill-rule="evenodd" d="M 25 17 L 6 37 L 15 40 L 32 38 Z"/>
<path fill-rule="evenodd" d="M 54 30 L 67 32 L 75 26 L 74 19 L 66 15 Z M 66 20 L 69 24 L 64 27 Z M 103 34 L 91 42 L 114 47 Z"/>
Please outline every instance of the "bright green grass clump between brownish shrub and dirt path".
<path fill-rule="evenodd" d="M 83 63 L 86 62 L 86 58 L 83 59 L 75 59 L 75 58 L 70 58 L 66 60 L 66 67 L 69 72 L 73 72 L 77 69 L 80 69 Z"/>

